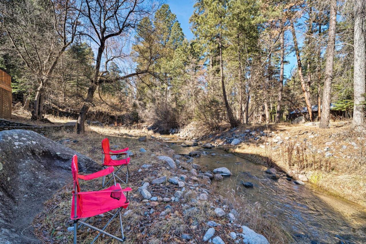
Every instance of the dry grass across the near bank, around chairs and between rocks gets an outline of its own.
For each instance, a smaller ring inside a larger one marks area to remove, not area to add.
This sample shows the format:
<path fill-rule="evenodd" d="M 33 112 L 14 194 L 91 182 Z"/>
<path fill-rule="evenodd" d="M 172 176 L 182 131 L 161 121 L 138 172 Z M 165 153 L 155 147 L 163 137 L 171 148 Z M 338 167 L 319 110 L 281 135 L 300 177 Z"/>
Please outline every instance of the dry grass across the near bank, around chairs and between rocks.
<path fill-rule="evenodd" d="M 131 177 L 129 178 L 128 186 L 132 189 L 137 189 L 144 181 L 150 181 L 153 177 L 167 176 L 168 178 L 177 175 L 172 170 L 167 170 L 165 165 L 158 162 L 152 154 L 155 155 L 172 155 L 173 151 L 164 146 L 164 143 L 158 142 L 158 139 L 147 139 L 146 142 L 138 142 L 139 136 L 153 135 L 151 132 L 147 132 L 141 127 L 130 128 L 113 128 L 113 127 L 87 127 L 87 131 L 83 135 L 67 134 L 65 132 L 59 132 L 51 135 L 53 140 L 61 140 L 66 138 L 77 139 L 77 143 L 67 144 L 68 147 L 79 151 L 91 158 L 96 162 L 100 162 L 100 142 L 103 138 L 109 138 L 111 146 L 117 145 L 118 148 L 126 146 L 130 147 L 135 154 L 132 158 L 130 167 Z M 158 135 L 154 135 L 158 136 Z M 147 153 L 139 153 L 139 148 L 145 148 Z M 153 167 L 149 169 L 142 169 L 142 172 L 138 172 L 138 169 L 142 164 L 152 164 Z M 183 164 L 185 164 L 183 162 Z M 190 169 L 191 165 L 186 164 L 186 167 Z M 189 174 L 189 173 L 188 173 Z M 199 179 L 200 183 L 202 179 Z M 83 191 L 97 190 L 101 185 L 101 180 L 93 181 L 81 181 L 81 188 Z M 124 186 L 122 186 L 124 187 Z M 208 186 L 209 187 L 209 186 Z M 216 229 L 216 235 L 225 241 L 230 243 L 231 239 L 228 236 L 230 231 L 239 231 L 240 229 L 227 225 L 227 220 L 224 218 L 218 218 L 214 214 L 214 208 L 227 204 L 224 197 L 216 196 L 214 192 L 215 184 L 209 188 L 212 193 L 209 194 L 208 201 L 194 201 L 200 194 L 195 190 L 191 191 L 191 194 L 183 194 L 184 198 L 181 202 L 169 202 L 172 206 L 170 213 L 165 217 L 159 217 L 167 203 L 159 203 L 157 207 L 154 207 L 154 213 L 145 215 L 145 212 L 150 212 L 150 207 L 142 202 L 141 194 L 136 190 L 130 195 L 130 206 L 128 207 L 130 213 L 123 217 L 124 230 L 126 236 L 126 243 L 184 243 L 184 240 L 180 237 L 182 233 L 190 234 L 196 240 L 201 240 L 203 234 L 209 228 L 205 224 L 208 220 L 214 220 L 222 224 L 221 228 Z M 70 220 L 70 208 L 71 208 L 71 188 L 72 185 L 66 185 L 60 189 L 49 201 L 45 203 L 45 208 L 34 220 L 35 233 L 38 238 L 47 243 L 71 243 L 72 232 L 67 232 L 67 228 L 72 226 L 73 222 Z M 165 183 L 161 186 L 150 185 L 149 191 L 153 196 L 172 196 L 177 188 Z M 187 193 L 189 189 L 186 190 Z M 217 200 L 219 202 L 216 202 Z M 243 202 L 242 202 L 243 203 Z M 183 207 L 182 204 L 187 204 L 187 207 Z M 239 202 L 238 202 L 239 204 Z M 196 207 L 197 211 L 191 214 L 183 215 L 184 209 L 189 207 Z M 271 243 L 289 243 L 290 239 L 276 226 L 276 222 L 270 222 L 272 219 L 266 219 L 265 213 L 258 208 L 246 203 L 240 206 L 243 209 L 244 219 L 250 221 L 250 228 L 255 231 L 264 234 Z M 90 219 L 90 223 L 101 228 L 108 221 L 108 218 L 93 217 Z M 240 222 L 244 223 L 244 222 Z M 120 234 L 119 221 L 112 221 L 108 226 L 107 231 L 116 235 Z M 78 231 L 78 243 L 90 243 L 93 237 L 97 233 L 86 227 L 83 227 Z M 286 239 L 287 238 L 287 239 Z M 200 242 L 200 241 L 198 241 Z M 100 237 L 96 243 L 117 243 L 109 237 Z"/>

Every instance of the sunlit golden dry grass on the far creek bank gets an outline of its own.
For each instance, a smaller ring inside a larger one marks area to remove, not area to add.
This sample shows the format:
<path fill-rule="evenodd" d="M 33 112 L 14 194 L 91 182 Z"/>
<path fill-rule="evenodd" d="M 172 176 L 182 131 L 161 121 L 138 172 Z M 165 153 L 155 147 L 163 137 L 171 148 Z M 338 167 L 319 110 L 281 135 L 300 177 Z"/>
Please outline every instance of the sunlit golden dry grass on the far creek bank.
<path fill-rule="evenodd" d="M 259 147 L 260 144 L 264 144 L 263 141 L 253 140 L 238 147 L 227 147 L 227 150 L 283 171 L 303 170 L 311 183 L 333 195 L 366 206 L 365 134 L 354 131 L 347 123 L 336 126 L 337 123 L 334 123 L 329 129 L 320 129 L 317 126 L 292 124 L 252 125 L 250 129 L 273 131 L 281 138 L 289 136 L 291 139 L 284 141 L 277 150 L 273 149 L 278 145 L 271 142 L 272 138 L 266 138 L 270 143 L 265 148 Z M 238 130 L 247 128 L 240 127 Z M 314 137 L 309 138 L 309 135 Z M 311 147 L 304 140 L 310 142 Z M 330 141 L 333 141 L 329 146 L 333 156 L 326 158 L 324 151 L 318 153 L 318 150 L 323 150 L 326 147 L 325 143 Z M 357 147 L 354 147 L 352 142 L 356 143 Z M 342 149 L 342 146 L 347 146 L 347 149 Z"/>

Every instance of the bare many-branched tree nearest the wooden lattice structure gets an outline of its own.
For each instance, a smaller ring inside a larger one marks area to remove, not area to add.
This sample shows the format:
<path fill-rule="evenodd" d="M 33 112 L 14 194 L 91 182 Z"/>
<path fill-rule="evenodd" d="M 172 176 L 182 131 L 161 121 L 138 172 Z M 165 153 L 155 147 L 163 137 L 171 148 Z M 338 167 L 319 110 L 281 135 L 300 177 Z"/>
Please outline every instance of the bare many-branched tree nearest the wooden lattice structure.
<path fill-rule="evenodd" d="M 32 119 L 42 118 L 46 89 L 52 73 L 78 34 L 77 1 L 6 1 L 0 4 L 0 27 L 4 32 L 4 52 L 16 58 L 26 79 L 38 87 Z"/>

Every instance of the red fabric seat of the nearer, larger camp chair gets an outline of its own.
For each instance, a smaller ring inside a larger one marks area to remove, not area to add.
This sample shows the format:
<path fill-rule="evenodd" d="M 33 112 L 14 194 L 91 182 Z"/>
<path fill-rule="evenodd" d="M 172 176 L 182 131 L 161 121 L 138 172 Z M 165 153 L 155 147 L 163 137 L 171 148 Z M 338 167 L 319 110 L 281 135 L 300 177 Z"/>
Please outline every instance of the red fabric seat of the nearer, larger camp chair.
<path fill-rule="evenodd" d="M 117 184 L 101 191 L 79 192 L 76 218 L 74 215 L 74 198 L 76 195 L 73 194 L 71 219 L 88 218 L 119 207 L 126 209 L 129 202 L 126 203 L 126 197 L 120 190 L 122 190 L 121 185 Z"/>

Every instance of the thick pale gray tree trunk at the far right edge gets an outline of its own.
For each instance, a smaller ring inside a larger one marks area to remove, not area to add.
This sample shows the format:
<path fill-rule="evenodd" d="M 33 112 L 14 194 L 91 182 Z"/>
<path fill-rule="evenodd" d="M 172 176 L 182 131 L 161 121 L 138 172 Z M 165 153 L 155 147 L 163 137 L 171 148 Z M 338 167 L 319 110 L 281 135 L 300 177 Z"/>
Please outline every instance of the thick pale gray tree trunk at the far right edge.
<path fill-rule="evenodd" d="M 362 0 L 355 0 L 354 6 L 354 69 L 353 89 L 354 106 L 352 125 L 358 131 L 362 130 L 361 125 L 365 120 L 365 74 L 366 74 L 366 3 Z"/>

